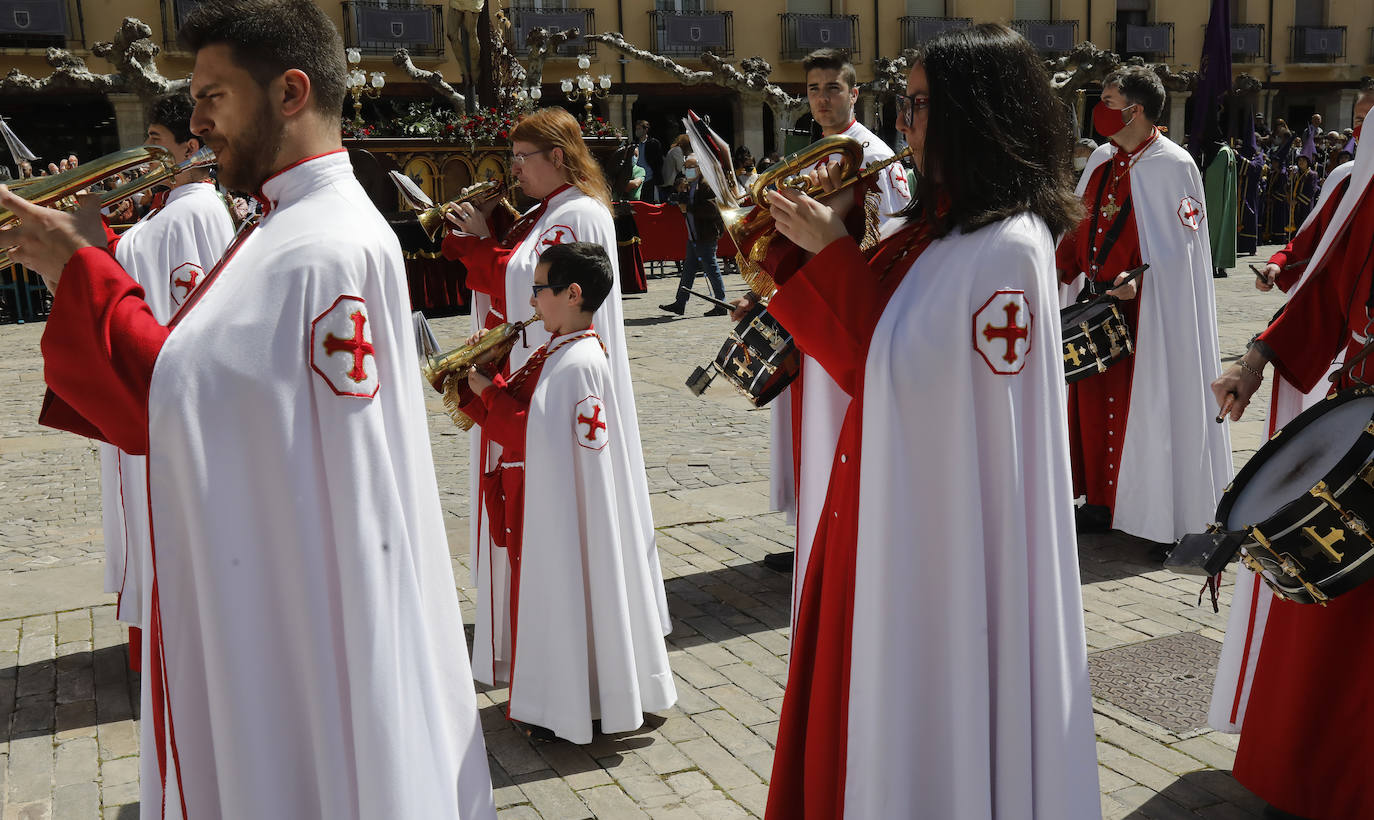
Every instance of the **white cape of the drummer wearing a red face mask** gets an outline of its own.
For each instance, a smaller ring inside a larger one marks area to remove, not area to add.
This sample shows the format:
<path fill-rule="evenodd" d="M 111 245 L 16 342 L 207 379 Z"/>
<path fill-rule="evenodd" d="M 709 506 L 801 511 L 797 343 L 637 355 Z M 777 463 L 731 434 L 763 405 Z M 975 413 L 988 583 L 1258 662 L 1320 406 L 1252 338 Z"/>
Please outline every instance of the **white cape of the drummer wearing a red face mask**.
<path fill-rule="evenodd" d="M 1092 152 L 1079 194 L 1117 147 Z M 1217 424 L 1212 382 L 1220 375 L 1212 250 L 1202 177 L 1193 158 L 1158 136 L 1131 166 L 1140 257 L 1135 371 L 1112 526 L 1173 543 L 1212 521 L 1231 481 L 1231 437 Z M 1189 221 L 1191 220 L 1191 225 Z M 1081 276 L 1061 288 L 1072 298 Z"/>

